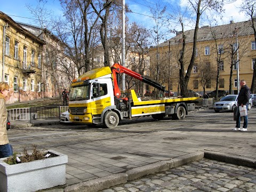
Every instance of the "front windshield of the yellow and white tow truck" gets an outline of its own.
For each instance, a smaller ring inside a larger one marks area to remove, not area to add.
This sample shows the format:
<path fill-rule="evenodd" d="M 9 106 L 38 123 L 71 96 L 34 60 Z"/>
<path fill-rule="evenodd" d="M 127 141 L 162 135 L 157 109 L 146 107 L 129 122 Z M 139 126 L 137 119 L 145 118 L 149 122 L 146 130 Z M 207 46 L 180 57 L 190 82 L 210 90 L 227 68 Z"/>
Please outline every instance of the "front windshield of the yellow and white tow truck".
<path fill-rule="evenodd" d="M 70 101 L 79 101 L 89 99 L 90 85 L 72 87 L 70 91 Z"/>

